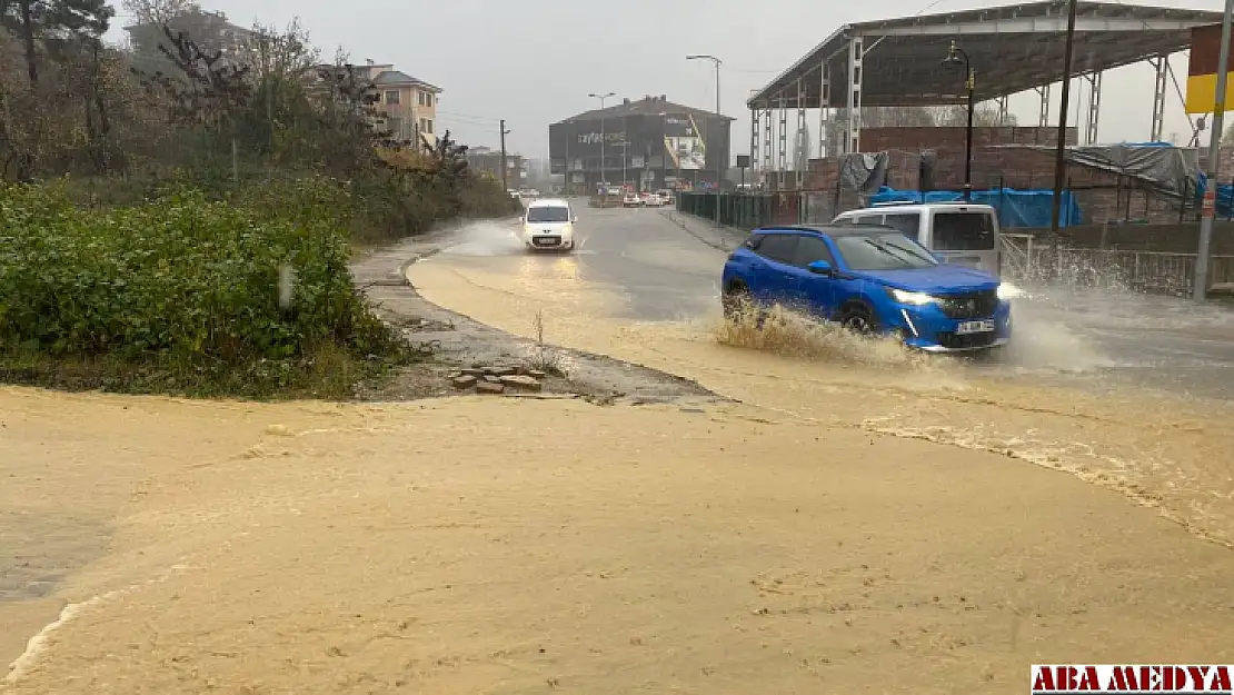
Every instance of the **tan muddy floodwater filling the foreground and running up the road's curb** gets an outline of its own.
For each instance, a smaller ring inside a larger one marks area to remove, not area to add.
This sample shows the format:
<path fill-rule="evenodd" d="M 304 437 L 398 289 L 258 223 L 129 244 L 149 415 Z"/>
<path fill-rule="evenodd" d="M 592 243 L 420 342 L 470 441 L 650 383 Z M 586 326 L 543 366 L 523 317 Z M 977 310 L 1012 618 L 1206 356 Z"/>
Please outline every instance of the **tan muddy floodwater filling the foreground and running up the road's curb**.
<path fill-rule="evenodd" d="M 411 279 L 728 400 L 0 389 L 0 693 L 992 694 L 1033 663 L 1234 659 L 1227 401 L 710 298 L 649 320 L 670 286 L 507 236 Z"/>

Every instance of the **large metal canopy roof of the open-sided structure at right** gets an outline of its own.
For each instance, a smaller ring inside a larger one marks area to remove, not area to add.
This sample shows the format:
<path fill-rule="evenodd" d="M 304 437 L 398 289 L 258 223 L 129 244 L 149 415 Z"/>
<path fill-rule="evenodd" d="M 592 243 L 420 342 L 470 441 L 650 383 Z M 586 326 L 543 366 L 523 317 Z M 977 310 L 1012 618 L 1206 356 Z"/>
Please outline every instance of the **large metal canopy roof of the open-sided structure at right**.
<path fill-rule="evenodd" d="M 1185 51 L 1191 30 L 1222 12 L 1081 1 L 1074 74 L 1099 73 Z M 942 64 L 953 40 L 971 58 L 979 100 L 1062 79 L 1066 0 L 845 25 L 748 101 L 750 109 L 848 105 L 849 46 L 864 48 L 861 106 L 928 106 L 965 100 L 964 70 Z M 829 99 L 823 104 L 823 65 Z M 801 85 L 798 96 L 798 84 Z"/>

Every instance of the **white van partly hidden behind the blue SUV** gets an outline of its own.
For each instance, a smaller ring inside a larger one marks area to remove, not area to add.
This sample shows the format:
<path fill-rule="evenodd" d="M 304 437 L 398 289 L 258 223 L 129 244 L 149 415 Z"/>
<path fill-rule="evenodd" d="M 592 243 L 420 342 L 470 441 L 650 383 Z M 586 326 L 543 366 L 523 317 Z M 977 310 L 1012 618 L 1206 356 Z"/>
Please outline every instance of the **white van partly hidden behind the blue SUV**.
<path fill-rule="evenodd" d="M 838 215 L 835 225 L 884 225 L 934 252 L 944 263 L 993 275 L 1002 267 L 998 215 L 970 202 L 888 204 Z"/>

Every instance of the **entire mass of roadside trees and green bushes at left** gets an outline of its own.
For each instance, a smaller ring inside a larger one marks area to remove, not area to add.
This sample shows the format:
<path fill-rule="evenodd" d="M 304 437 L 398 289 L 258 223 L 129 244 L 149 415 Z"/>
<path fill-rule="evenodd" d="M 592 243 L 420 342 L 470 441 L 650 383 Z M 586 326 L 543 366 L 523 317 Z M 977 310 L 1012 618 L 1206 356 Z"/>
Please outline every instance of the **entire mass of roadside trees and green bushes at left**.
<path fill-rule="evenodd" d="M 466 148 L 384 131 L 375 85 L 307 33 L 237 37 L 184 0 L 0 4 L 0 380 L 349 397 L 424 359 L 348 270 L 357 246 L 517 201 Z"/>

